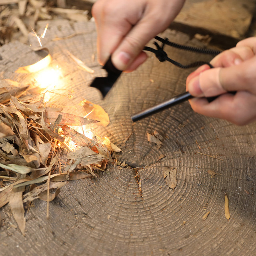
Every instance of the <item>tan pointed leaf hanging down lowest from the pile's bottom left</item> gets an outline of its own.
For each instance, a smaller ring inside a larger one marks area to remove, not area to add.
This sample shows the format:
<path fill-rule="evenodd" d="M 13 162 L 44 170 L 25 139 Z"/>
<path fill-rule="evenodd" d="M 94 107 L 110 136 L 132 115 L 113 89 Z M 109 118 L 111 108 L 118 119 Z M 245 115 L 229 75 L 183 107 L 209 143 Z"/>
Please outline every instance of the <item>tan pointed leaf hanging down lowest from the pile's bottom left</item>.
<path fill-rule="evenodd" d="M 25 178 L 26 174 L 18 174 L 16 181 Z M 25 224 L 26 219 L 24 217 L 24 206 L 23 206 L 23 200 L 22 200 L 22 193 L 25 190 L 25 186 L 20 186 L 19 188 L 12 188 L 12 192 L 10 193 L 9 198 L 9 205 L 10 209 L 12 211 L 12 215 L 14 216 L 14 219 L 16 220 L 18 227 L 20 228 L 20 231 L 22 232 L 22 235 L 25 235 Z"/>

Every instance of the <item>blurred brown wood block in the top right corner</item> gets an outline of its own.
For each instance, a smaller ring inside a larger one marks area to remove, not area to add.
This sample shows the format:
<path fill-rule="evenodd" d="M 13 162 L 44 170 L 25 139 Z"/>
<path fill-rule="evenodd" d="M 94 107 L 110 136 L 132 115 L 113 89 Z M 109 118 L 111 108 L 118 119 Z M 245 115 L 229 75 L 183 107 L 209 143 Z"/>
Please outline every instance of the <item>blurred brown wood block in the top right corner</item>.
<path fill-rule="evenodd" d="M 187 0 L 175 22 L 239 39 L 248 31 L 255 6 L 255 0 Z"/>

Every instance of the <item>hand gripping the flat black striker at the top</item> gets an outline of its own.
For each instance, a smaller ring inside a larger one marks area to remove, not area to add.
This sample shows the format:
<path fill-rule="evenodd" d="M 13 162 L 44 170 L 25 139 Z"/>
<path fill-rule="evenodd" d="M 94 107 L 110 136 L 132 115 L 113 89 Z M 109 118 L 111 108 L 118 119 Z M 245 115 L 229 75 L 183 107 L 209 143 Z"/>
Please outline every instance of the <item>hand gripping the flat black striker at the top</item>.
<path fill-rule="evenodd" d="M 110 54 L 119 70 L 132 71 L 147 55 L 144 46 L 164 31 L 185 0 L 98 0 L 92 7 L 98 38 L 98 58 L 104 65 Z"/>

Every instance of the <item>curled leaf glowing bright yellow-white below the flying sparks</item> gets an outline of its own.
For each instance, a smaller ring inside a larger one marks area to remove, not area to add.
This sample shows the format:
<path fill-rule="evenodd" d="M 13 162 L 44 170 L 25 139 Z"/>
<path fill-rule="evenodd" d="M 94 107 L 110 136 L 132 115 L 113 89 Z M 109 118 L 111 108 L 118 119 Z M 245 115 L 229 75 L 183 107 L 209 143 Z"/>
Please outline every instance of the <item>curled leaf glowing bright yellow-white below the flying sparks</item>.
<path fill-rule="evenodd" d="M 42 58 L 42 60 L 39 60 L 34 64 L 18 68 L 15 72 L 16 73 L 33 73 L 48 67 L 52 61 L 52 56 L 50 55 L 49 50 L 47 48 L 40 48 L 39 50 L 44 50 L 48 52 L 48 55 Z"/>

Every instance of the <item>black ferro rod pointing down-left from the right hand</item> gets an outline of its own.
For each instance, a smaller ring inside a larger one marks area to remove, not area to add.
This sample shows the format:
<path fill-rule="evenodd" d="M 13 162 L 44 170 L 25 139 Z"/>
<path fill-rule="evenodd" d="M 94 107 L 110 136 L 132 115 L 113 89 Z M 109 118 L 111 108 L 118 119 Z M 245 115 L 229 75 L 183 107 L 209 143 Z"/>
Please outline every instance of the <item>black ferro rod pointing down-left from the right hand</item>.
<path fill-rule="evenodd" d="M 151 116 L 152 114 L 156 114 L 166 108 L 170 108 L 176 104 L 179 104 L 181 102 L 184 102 L 184 101 L 192 99 L 192 98 L 193 98 L 193 96 L 189 92 L 184 92 L 174 98 L 171 98 L 170 100 L 167 100 L 167 101 L 162 102 L 156 106 L 147 108 L 145 110 L 138 112 L 137 114 L 132 115 L 131 116 L 132 121 L 136 122 L 138 120 L 141 120 L 142 118 L 146 118 L 148 116 Z"/>

